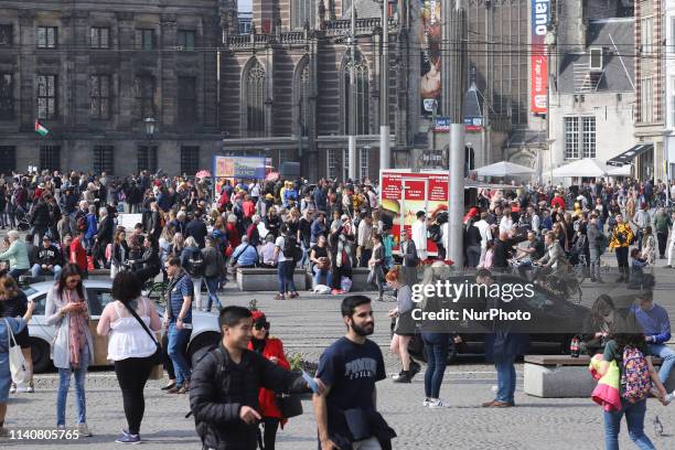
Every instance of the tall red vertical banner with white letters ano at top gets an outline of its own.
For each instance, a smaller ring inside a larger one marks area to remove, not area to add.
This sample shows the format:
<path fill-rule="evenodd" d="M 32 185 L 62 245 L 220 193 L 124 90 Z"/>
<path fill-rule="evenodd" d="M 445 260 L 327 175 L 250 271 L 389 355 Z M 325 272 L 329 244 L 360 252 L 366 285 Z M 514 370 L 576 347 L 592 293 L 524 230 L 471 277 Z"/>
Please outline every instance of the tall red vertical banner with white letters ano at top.
<path fill-rule="evenodd" d="M 529 97 L 531 110 L 534 114 L 546 114 L 548 110 L 548 55 L 546 32 L 550 20 L 550 0 L 532 0 L 532 61 Z"/>

